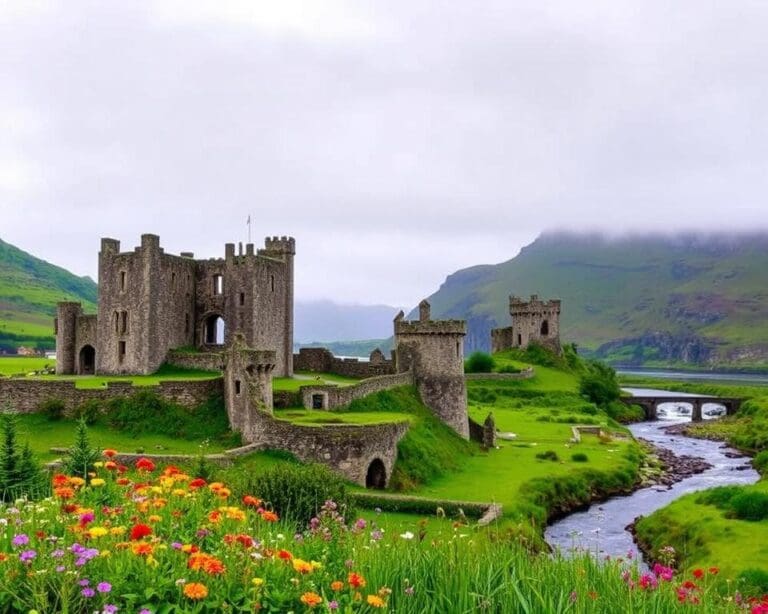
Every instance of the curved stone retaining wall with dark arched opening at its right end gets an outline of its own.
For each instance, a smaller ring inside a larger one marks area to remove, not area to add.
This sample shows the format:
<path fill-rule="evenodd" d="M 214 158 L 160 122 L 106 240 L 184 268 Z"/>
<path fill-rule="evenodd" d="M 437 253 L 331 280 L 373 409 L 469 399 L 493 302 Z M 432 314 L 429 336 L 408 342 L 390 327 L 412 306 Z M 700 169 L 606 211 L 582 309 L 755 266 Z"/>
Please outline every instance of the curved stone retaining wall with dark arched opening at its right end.
<path fill-rule="evenodd" d="M 366 486 L 374 461 L 385 469 L 389 482 L 397 459 L 397 443 L 408 431 L 408 422 L 379 425 L 303 426 L 277 420 L 259 412 L 246 440 L 261 449 L 287 450 L 305 462 L 328 465 L 349 480 Z"/>

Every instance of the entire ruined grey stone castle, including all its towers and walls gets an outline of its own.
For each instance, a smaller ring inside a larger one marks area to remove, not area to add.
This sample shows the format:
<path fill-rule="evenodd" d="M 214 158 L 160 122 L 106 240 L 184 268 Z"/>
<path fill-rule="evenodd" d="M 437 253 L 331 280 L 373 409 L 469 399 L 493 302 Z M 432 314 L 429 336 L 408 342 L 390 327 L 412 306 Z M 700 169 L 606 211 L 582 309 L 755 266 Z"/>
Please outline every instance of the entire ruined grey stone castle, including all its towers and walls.
<path fill-rule="evenodd" d="M 478 425 L 467 412 L 466 322 L 433 320 L 427 301 L 419 305 L 418 320 L 407 321 L 402 311 L 395 317 L 391 359 L 378 350 L 368 362 L 339 359 L 323 348 L 293 354 L 295 254 L 290 237 L 268 237 L 258 250 L 247 244 L 236 252 L 229 243 L 224 258 L 209 260 L 189 252 L 166 254 L 152 234 L 142 235 L 141 245 L 130 252 L 121 252 L 114 239 L 102 239 L 98 312 L 86 315 L 79 303 L 58 304 L 57 373 L 149 374 L 166 362 L 221 371 L 222 377 L 210 382 L 162 382 L 160 394 L 181 402 L 199 402 L 201 386 L 207 394 L 221 394 L 230 426 L 248 449 L 288 450 L 366 486 L 386 485 L 407 422 L 305 426 L 279 419 L 275 407 L 330 410 L 413 385 L 424 405 L 461 437 L 493 446 L 492 420 Z M 510 313 L 513 326 L 493 331 L 494 351 L 532 341 L 559 349 L 559 301 L 511 297 Z M 308 378 L 298 393 L 275 393 L 272 378 L 290 377 L 294 368 L 361 379 L 336 386 Z M 28 391 L 38 383 L 24 384 L 24 390 L 8 392 L 33 411 Z M 130 391 L 126 383 L 93 391 L 78 391 L 72 382 L 51 384 L 72 407 Z M 71 390 L 64 389 L 67 384 Z"/>

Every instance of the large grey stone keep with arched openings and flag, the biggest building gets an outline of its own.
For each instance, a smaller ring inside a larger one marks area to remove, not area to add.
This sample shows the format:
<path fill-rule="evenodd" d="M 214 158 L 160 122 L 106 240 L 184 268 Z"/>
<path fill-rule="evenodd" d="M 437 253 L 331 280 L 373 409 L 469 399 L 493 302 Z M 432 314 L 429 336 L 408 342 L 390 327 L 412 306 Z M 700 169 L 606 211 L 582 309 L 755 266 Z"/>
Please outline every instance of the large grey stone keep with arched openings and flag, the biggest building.
<path fill-rule="evenodd" d="M 153 373 L 171 349 L 221 349 L 242 334 L 248 347 L 275 352 L 275 375 L 291 376 L 295 241 L 245 248 L 228 243 L 224 258 L 195 260 L 166 254 L 152 234 L 131 252 L 102 239 L 97 315 L 58 305 L 57 373 Z"/>

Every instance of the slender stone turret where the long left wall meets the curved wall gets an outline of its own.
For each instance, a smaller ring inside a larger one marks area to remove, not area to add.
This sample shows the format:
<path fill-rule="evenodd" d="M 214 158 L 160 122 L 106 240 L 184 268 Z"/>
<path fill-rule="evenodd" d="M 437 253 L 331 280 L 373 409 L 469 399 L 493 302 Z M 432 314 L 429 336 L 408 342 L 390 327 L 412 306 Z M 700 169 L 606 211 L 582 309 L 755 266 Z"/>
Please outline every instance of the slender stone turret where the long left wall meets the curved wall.
<path fill-rule="evenodd" d="M 272 374 L 276 353 L 252 350 L 242 334 L 233 335 L 227 348 L 224 369 L 224 401 L 232 430 L 246 441 L 254 439 L 258 428 L 256 412 L 272 415 Z"/>

